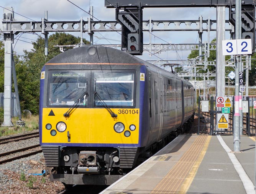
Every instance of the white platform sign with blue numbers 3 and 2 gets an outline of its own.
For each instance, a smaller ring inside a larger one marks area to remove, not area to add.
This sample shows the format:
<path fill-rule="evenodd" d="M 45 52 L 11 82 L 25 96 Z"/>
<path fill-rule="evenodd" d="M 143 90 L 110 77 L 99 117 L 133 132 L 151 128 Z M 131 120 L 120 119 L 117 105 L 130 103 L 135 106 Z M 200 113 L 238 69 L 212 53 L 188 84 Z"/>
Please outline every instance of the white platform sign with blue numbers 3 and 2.
<path fill-rule="evenodd" d="M 223 55 L 247 55 L 251 53 L 251 39 L 222 40 Z"/>

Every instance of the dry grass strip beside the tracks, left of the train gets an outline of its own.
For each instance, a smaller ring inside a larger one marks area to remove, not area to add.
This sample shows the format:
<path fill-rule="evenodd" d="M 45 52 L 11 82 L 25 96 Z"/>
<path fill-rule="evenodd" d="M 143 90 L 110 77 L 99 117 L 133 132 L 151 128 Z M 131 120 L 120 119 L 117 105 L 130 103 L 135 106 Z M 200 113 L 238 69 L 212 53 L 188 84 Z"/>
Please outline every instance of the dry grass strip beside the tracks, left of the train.
<path fill-rule="evenodd" d="M 24 131 L 33 131 L 34 129 L 38 129 L 38 121 L 39 121 L 38 115 L 22 117 L 21 120 L 25 121 L 24 127 L 16 125 L 16 121 L 18 120 L 19 120 L 18 117 L 11 118 L 11 121 L 14 124 L 13 127 L 0 127 L 0 137 L 12 135 L 12 134 L 19 134 Z"/>

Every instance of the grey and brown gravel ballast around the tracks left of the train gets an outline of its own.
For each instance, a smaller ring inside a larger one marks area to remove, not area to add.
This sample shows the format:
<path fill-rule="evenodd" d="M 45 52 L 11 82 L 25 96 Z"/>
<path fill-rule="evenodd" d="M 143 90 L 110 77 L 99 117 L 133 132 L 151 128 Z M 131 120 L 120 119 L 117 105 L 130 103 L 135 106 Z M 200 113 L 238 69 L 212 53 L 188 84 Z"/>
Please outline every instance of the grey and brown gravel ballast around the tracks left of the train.
<path fill-rule="evenodd" d="M 39 144 L 39 138 L 1 144 L 0 153 L 36 144 Z M 28 170 L 31 169 L 45 169 L 43 161 L 43 153 L 39 153 L 1 164 L 0 194 L 57 194 L 64 190 L 64 185 L 57 181 L 50 181 L 49 175 L 28 174 Z"/>

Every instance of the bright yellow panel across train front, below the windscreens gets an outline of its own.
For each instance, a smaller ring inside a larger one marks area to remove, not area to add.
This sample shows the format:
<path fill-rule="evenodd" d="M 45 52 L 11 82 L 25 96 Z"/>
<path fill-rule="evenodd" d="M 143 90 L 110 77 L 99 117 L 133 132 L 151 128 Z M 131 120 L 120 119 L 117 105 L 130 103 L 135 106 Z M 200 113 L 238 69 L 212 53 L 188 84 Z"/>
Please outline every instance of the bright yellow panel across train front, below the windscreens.
<path fill-rule="evenodd" d="M 139 109 L 112 108 L 117 118 L 111 117 L 105 108 L 76 108 L 69 117 L 64 117 L 68 108 L 43 108 L 42 143 L 77 143 L 77 144 L 138 144 L 139 142 Z M 64 122 L 67 129 L 59 132 L 56 129 L 58 122 Z M 125 130 L 121 133 L 114 131 L 114 124 L 121 122 Z M 46 124 L 51 129 L 46 129 Z M 131 131 L 129 126 L 134 124 L 136 129 Z M 51 135 L 56 130 L 56 135 Z M 124 132 L 131 135 L 125 137 Z M 69 132 L 69 134 L 68 134 Z M 70 139 L 68 137 L 70 135 Z"/>

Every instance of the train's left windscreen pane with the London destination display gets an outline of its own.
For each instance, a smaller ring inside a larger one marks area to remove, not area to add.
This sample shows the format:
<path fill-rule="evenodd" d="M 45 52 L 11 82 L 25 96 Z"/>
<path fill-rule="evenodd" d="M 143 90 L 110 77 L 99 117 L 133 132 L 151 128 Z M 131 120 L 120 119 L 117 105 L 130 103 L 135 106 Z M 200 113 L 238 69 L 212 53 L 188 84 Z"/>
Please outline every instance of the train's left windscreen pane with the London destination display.
<path fill-rule="evenodd" d="M 85 71 L 49 71 L 48 105 L 73 105 L 87 91 Z M 79 99 L 78 105 L 86 105 L 87 99 Z"/>

